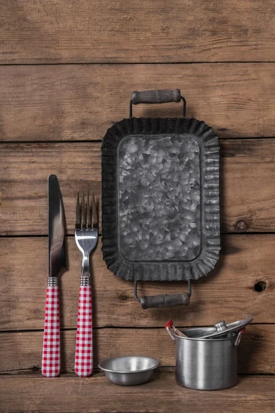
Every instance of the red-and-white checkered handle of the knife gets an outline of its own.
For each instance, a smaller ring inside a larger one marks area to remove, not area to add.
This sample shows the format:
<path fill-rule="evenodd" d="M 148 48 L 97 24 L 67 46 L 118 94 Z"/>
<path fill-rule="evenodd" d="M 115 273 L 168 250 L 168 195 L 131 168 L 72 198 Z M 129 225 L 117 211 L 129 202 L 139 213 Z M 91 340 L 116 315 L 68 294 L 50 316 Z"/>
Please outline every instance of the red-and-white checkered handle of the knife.
<path fill-rule="evenodd" d="M 59 291 L 58 286 L 48 286 L 41 371 L 45 377 L 56 377 L 60 370 Z"/>

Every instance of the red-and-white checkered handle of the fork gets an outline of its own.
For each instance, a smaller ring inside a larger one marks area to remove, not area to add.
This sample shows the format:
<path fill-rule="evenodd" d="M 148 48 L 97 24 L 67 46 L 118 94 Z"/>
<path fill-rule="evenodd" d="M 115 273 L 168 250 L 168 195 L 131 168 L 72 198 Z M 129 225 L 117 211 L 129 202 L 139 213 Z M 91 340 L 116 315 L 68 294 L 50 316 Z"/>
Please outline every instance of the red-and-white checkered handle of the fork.
<path fill-rule="evenodd" d="M 93 371 L 93 325 L 91 317 L 91 286 L 80 286 L 76 357 L 74 371 L 79 377 L 88 377 Z"/>

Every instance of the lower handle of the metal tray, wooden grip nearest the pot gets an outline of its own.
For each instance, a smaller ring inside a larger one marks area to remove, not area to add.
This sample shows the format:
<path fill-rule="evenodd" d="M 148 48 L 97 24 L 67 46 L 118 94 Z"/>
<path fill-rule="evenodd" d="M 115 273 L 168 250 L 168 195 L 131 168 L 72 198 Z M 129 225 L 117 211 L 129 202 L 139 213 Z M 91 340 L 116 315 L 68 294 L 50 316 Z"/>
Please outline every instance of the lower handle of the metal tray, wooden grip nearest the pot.
<path fill-rule="evenodd" d="M 160 295 L 142 295 L 137 297 L 137 281 L 134 284 L 134 295 L 137 301 L 140 301 L 142 308 L 167 308 L 177 306 L 188 306 L 191 297 L 191 282 L 188 280 L 188 293 L 181 294 L 160 294 Z"/>

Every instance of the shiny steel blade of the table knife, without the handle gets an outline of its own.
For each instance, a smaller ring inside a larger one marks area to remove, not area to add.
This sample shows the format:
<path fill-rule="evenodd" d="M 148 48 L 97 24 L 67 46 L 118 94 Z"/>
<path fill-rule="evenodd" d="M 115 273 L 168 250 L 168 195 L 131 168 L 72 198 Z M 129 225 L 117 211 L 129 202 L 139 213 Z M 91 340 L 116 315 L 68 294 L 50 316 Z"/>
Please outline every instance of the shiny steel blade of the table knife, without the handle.
<path fill-rule="evenodd" d="M 49 277 L 57 277 L 66 268 L 65 213 L 61 190 L 55 175 L 48 180 Z"/>

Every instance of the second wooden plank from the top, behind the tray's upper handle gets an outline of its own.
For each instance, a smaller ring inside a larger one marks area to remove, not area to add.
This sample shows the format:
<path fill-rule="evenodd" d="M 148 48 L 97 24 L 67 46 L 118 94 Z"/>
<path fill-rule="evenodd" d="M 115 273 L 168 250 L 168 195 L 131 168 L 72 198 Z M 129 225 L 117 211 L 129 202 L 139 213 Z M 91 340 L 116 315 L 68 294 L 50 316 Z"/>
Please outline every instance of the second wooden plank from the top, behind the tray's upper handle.
<path fill-rule="evenodd" d="M 1 66 L 0 139 L 99 140 L 129 116 L 133 90 L 175 87 L 187 116 L 221 138 L 271 137 L 274 76 L 270 63 Z M 181 117 L 182 105 L 137 105 L 133 115 Z"/>

